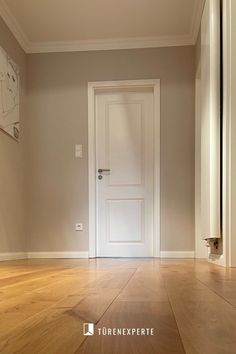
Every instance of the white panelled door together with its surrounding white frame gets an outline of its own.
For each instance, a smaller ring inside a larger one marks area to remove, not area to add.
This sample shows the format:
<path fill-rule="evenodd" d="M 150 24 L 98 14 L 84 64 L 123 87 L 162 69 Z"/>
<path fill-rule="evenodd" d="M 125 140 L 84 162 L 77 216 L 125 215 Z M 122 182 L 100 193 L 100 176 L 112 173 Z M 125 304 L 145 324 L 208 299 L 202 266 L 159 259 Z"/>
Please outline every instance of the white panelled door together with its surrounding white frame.
<path fill-rule="evenodd" d="M 159 256 L 159 100 L 159 80 L 89 83 L 90 257 Z"/>

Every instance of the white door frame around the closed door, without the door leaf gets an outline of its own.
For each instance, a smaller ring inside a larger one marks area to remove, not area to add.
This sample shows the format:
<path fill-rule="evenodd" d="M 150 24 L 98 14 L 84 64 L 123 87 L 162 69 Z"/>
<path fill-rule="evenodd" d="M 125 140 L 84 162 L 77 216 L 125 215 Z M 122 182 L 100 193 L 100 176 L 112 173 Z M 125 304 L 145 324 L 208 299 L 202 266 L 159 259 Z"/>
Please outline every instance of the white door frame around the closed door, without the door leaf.
<path fill-rule="evenodd" d="M 97 257 L 96 193 L 96 117 L 95 95 L 104 89 L 151 88 L 154 95 L 154 203 L 153 257 L 160 257 L 160 80 L 121 80 L 88 82 L 88 190 L 89 190 L 89 258 Z"/>

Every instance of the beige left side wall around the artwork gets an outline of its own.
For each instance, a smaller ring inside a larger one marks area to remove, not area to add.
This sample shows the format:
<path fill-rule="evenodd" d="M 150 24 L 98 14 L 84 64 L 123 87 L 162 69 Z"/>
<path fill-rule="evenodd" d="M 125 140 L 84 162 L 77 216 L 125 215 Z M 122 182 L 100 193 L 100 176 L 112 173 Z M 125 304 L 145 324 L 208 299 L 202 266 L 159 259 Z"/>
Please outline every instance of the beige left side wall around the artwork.
<path fill-rule="evenodd" d="M 26 56 L 0 17 L 0 46 L 20 67 L 24 127 Z M 23 134 L 20 143 L 0 131 L 0 253 L 25 251 Z"/>

